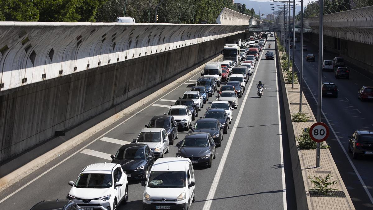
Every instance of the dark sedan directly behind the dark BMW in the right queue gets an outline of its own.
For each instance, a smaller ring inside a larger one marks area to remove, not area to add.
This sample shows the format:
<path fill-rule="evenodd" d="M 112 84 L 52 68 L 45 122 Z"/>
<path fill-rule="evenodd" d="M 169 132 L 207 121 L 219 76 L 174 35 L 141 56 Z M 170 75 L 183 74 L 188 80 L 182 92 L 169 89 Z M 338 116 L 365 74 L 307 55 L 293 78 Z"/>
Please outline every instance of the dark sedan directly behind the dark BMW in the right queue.
<path fill-rule="evenodd" d="M 214 142 L 217 147 L 221 146 L 223 140 L 223 131 L 224 126 L 220 123 L 219 120 L 214 118 L 203 118 L 195 121 L 194 126 L 192 127 L 190 133 L 192 132 L 206 132 L 210 133 L 211 137 L 214 139 Z"/>

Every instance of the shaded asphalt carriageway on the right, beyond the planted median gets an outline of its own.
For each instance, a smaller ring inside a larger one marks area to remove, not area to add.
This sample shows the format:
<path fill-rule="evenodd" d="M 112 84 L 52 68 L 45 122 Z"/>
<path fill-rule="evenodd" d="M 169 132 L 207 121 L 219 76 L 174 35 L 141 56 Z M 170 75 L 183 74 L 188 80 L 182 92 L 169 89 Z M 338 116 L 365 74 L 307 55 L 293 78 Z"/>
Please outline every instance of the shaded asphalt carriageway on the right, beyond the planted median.
<path fill-rule="evenodd" d="M 298 38 L 298 40 L 300 40 Z M 311 43 L 304 43 L 308 50 L 303 53 L 303 92 L 310 103 L 316 117 L 317 111 L 317 65 L 318 47 Z M 295 64 L 300 68 L 301 44 L 296 43 Z M 315 62 L 306 62 L 305 56 L 313 53 Z M 292 55 L 292 50 L 291 50 Z M 338 55 L 324 52 L 324 60 L 333 60 Z M 336 79 L 334 72 L 324 71 L 323 82 L 332 82 L 338 86 L 338 98 L 322 98 L 322 121 L 329 126 L 330 136 L 327 142 L 330 152 L 338 167 L 339 173 L 348 189 L 351 200 L 356 209 L 373 208 L 373 162 L 370 157 L 352 159 L 352 154 L 347 152 L 348 136 L 355 130 L 373 130 L 372 102 L 361 102 L 357 98 L 358 90 L 362 86 L 373 85 L 373 77 L 361 73 L 358 67 L 346 63 L 350 68 L 350 79 Z M 322 163 L 320 163 L 322 166 Z"/>

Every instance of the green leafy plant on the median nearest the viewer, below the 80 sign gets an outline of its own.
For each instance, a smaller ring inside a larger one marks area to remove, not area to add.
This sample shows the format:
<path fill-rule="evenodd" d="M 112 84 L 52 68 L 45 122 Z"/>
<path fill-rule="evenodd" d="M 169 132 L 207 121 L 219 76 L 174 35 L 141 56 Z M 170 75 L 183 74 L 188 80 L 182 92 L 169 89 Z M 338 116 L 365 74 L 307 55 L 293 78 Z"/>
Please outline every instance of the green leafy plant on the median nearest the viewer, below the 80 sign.
<path fill-rule="evenodd" d="M 314 192 L 321 195 L 331 195 L 333 194 L 333 191 L 337 191 L 338 189 L 330 188 L 332 185 L 335 185 L 338 183 L 338 180 L 330 181 L 333 179 L 332 175 L 330 173 L 325 177 L 322 178 L 321 176 L 313 176 L 313 179 L 308 176 L 308 179 L 310 179 L 311 183 L 315 185 L 314 188 L 309 189 L 308 191 Z"/>

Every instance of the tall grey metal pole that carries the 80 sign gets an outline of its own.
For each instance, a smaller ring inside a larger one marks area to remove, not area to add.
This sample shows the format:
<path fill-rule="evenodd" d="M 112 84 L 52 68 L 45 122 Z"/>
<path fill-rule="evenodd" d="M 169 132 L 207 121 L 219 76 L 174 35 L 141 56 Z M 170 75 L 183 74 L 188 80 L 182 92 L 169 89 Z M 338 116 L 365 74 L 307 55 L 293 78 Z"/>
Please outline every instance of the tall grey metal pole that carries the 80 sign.
<path fill-rule="evenodd" d="M 324 34 L 324 1 L 319 0 L 319 79 L 317 80 L 317 122 L 321 122 L 321 83 L 323 81 L 323 34 Z M 320 143 L 316 144 L 316 168 L 320 167 Z"/>

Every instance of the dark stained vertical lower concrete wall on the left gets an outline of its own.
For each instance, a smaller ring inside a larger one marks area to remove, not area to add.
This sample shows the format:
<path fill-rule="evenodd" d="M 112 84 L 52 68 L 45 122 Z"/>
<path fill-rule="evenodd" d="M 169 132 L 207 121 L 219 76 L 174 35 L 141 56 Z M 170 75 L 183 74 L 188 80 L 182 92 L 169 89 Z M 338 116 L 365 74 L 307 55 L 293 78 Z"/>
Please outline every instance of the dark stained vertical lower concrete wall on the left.
<path fill-rule="evenodd" d="M 8 90 L 0 95 L 0 162 L 218 55 L 226 39 L 171 47 Z"/>

